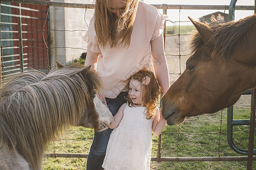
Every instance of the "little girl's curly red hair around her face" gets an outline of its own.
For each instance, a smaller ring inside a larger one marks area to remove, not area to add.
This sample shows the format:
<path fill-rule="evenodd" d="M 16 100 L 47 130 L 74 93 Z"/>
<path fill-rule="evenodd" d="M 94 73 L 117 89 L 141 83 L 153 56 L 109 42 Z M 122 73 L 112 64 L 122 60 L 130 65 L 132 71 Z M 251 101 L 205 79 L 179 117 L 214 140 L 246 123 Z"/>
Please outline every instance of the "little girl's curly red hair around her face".
<path fill-rule="evenodd" d="M 146 76 L 149 76 L 149 78 L 150 78 L 150 82 L 147 85 L 142 83 L 143 79 Z M 153 118 L 155 109 L 157 107 L 157 102 L 160 99 L 160 94 L 161 94 L 161 88 L 156 79 L 156 76 L 154 75 L 154 73 L 152 71 L 144 70 L 144 69 L 140 70 L 137 73 L 130 76 L 130 78 L 125 80 L 125 83 L 127 83 L 127 86 L 125 89 L 129 90 L 129 82 L 132 79 L 138 80 L 139 82 L 141 82 L 142 101 L 143 101 L 145 107 L 148 109 L 148 112 L 146 113 L 146 118 L 147 119 Z M 132 103 L 132 100 L 129 97 L 129 95 L 128 95 L 127 99 L 128 99 L 128 105 L 130 107 L 133 107 L 136 105 L 136 104 Z"/>

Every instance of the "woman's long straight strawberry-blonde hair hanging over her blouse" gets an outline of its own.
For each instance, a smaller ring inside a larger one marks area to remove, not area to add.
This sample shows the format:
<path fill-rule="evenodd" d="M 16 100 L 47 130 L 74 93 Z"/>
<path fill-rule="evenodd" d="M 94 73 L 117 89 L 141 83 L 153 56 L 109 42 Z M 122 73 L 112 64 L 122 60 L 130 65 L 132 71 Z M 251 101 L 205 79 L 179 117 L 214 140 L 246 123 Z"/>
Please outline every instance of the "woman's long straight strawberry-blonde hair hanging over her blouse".
<path fill-rule="evenodd" d="M 94 27 L 98 37 L 98 45 L 105 48 L 110 44 L 112 48 L 119 45 L 120 42 L 121 45 L 129 46 L 139 0 L 123 0 L 127 4 L 120 18 L 111 12 L 110 1 L 112 0 L 96 0 L 95 2 Z M 120 31 L 117 31 L 119 22 L 123 23 Z"/>

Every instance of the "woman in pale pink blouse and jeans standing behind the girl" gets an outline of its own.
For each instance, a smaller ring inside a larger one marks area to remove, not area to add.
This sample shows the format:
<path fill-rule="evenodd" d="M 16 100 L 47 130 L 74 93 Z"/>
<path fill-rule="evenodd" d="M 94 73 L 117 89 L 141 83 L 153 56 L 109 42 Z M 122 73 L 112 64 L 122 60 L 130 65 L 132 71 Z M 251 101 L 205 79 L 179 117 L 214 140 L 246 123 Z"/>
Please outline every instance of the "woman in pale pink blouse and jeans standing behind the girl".
<path fill-rule="evenodd" d="M 108 108 L 115 115 L 126 103 L 124 80 L 141 69 L 152 70 L 163 94 L 169 88 L 169 73 L 163 46 L 165 17 L 157 8 L 139 0 L 96 0 L 95 14 L 87 34 L 85 66 L 102 77 Z M 102 169 L 112 129 L 94 134 L 87 169 Z"/>

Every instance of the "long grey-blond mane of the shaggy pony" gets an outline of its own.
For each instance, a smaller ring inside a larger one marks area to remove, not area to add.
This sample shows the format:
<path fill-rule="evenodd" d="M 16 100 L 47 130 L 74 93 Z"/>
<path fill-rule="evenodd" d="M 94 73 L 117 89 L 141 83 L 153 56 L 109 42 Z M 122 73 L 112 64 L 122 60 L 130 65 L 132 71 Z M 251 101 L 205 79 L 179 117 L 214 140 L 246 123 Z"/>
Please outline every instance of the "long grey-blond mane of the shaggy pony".
<path fill-rule="evenodd" d="M 100 87 L 100 79 L 90 70 L 85 70 L 86 76 L 82 75 L 83 70 L 84 67 L 64 67 L 30 83 L 17 78 L 14 87 L 10 82 L 9 86 L 1 88 L 0 94 L 5 94 L 5 100 L 1 100 L 1 116 L 10 130 L 15 131 L 16 148 L 33 169 L 41 166 L 45 145 L 56 137 L 58 130 L 77 125 L 90 108 L 90 113 L 97 115 L 90 95 L 93 88 Z M 7 88 L 12 91 L 5 93 Z M 91 118 L 87 115 L 87 120 Z M 10 137 L 7 138 L 0 142 L 7 143 Z"/>

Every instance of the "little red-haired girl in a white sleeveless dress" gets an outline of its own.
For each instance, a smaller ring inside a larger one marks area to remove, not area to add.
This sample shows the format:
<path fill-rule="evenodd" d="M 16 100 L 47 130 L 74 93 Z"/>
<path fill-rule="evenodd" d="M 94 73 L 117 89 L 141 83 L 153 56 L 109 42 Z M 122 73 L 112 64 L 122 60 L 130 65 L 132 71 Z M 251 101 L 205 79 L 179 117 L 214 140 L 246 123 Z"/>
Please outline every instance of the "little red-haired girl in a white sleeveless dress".
<path fill-rule="evenodd" d="M 152 131 L 160 135 L 166 120 L 157 108 L 161 90 L 152 71 L 140 70 L 127 80 L 128 103 L 113 117 L 104 169 L 150 169 Z"/>

